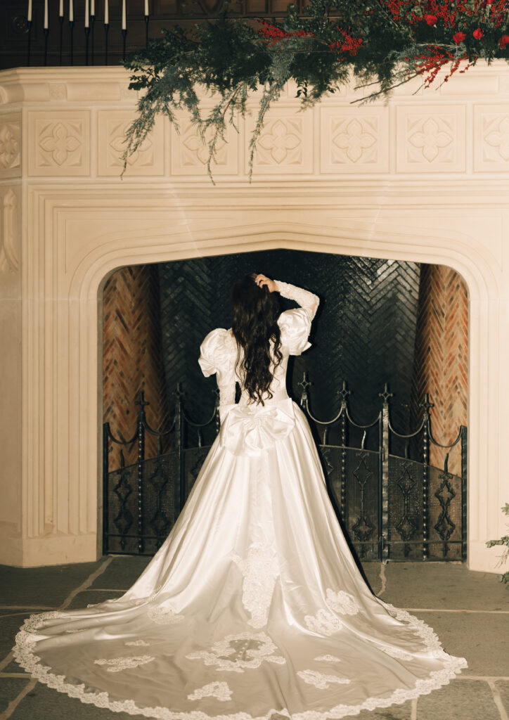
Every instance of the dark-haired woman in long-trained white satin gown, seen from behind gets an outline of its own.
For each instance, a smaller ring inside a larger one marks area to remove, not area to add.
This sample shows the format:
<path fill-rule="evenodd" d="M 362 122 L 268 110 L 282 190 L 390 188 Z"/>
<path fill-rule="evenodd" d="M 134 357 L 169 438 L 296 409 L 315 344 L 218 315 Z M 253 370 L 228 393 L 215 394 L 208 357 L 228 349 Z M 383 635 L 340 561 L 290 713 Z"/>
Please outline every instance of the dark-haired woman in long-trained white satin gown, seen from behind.
<path fill-rule="evenodd" d="M 276 291 L 301 307 L 279 314 Z M 122 597 L 27 618 L 17 662 L 83 703 L 160 720 L 336 719 L 449 683 L 466 660 L 366 587 L 287 395 L 317 296 L 253 275 L 233 302 L 240 343 L 216 328 L 199 357 L 220 433 L 174 528 Z"/>

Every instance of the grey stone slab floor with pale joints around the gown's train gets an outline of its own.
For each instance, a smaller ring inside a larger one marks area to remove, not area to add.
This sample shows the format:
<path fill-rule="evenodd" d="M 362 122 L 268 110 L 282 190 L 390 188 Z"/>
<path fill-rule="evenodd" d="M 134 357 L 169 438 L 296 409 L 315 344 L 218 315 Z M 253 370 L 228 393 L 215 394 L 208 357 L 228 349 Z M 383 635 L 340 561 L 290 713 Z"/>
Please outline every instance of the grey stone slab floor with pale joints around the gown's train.
<path fill-rule="evenodd" d="M 0 720 L 128 720 L 48 688 L 14 662 L 14 636 L 30 613 L 83 608 L 122 595 L 148 558 L 22 569 L 0 565 Z M 366 563 L 366 579 L 386 602 L 431 625 L 444 649 L 469 663 L 440 690 L 357 720 L 509 720 L 509 588 L 461 563 Z M 141 716 L 134 716 L 141 717 Z"/>

